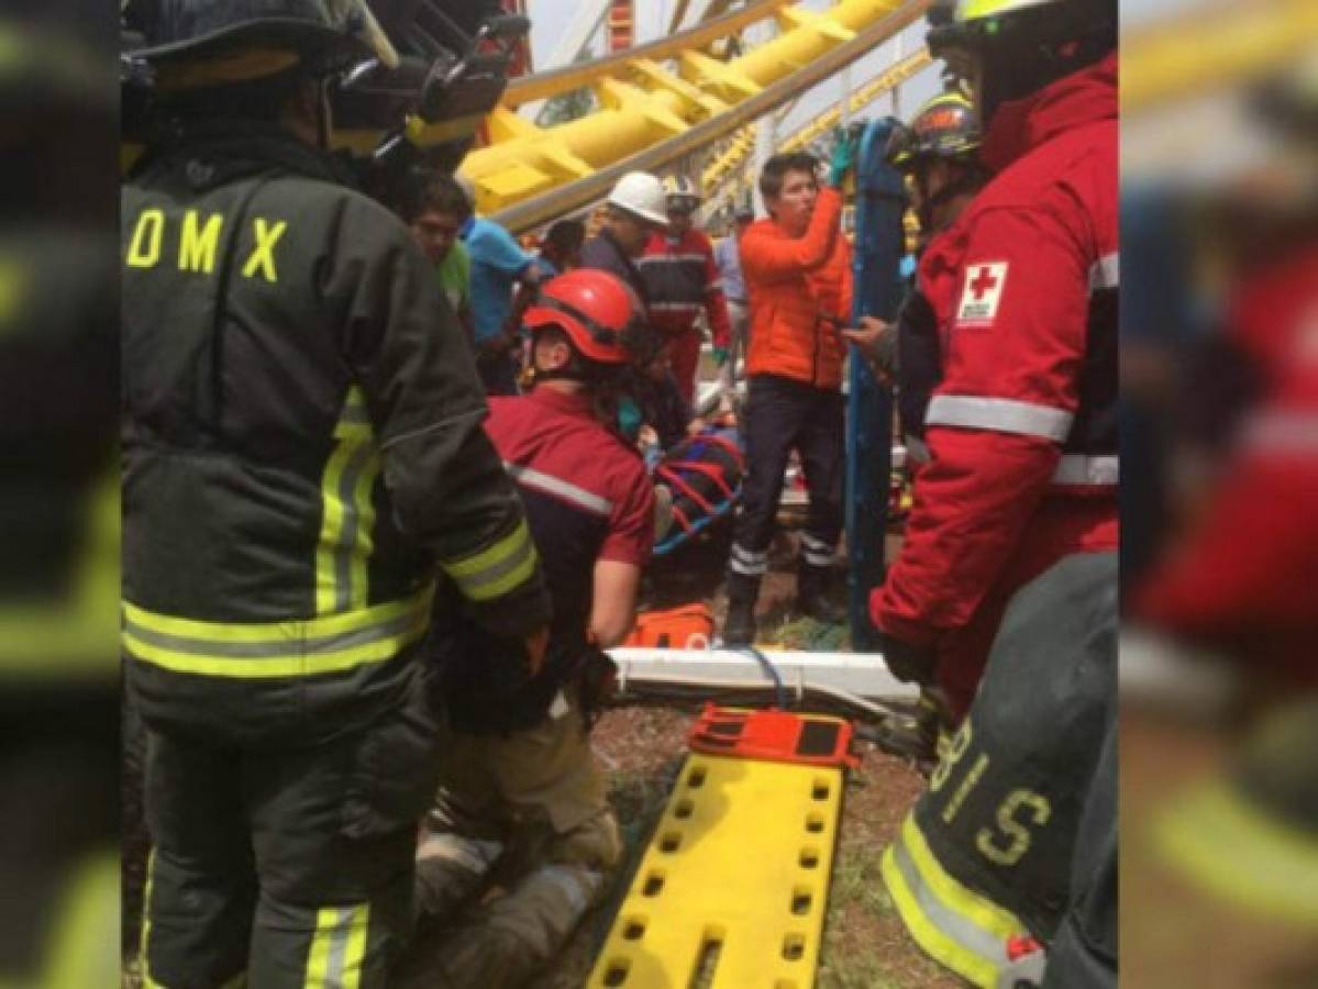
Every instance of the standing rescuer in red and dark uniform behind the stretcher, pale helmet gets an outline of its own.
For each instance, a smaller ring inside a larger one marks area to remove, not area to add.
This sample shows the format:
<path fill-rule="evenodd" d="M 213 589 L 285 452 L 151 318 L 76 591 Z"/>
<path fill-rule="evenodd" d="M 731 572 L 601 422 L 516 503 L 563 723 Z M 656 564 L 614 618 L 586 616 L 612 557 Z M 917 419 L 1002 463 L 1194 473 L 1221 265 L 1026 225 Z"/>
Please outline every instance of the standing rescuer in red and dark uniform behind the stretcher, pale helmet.
<path fill-rule="evenodd" d="M 714 245 L 704 230 L 692 227 L 692 213 L 700 207 L 700 191 L 685 175 L 664 179 L 668 229 L 650 234 L 637 266 L 646 279 L 650 323 L 668 341 L 668 361 L 677 390 L 688 406 L 696 396 L 696 369 L 700 363 L 700 329 L 696 320 L 704 312 L 714 337 L 714 350 L 728 354 L 731 327 L 724 278 L 714 263 Z"/>

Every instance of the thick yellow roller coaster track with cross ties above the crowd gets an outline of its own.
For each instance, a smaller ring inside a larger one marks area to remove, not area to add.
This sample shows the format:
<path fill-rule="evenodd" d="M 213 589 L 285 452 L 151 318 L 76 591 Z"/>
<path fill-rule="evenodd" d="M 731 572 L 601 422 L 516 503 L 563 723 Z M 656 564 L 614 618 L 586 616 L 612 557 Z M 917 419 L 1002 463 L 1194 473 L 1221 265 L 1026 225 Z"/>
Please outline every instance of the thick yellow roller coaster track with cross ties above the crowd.
<path fill-rule="evenodd" d="M 745 128 L 873 51 L 929 1 L 840 0 L 824 12 L 755 4 L 552 80 L 531 76 L 510 87 L 489 117 L 492 144 L 467 155 L 461 171 L 481 212 L 513 232 L 534 228 L 602 199 L 626 171 L 662 169 Z M 775 16 L 779 36 L 728 62 L 700 51 L 751 14 Z M 583 83 L 600 109 L 580 120 L 538 128 L 511 109 Z"/>

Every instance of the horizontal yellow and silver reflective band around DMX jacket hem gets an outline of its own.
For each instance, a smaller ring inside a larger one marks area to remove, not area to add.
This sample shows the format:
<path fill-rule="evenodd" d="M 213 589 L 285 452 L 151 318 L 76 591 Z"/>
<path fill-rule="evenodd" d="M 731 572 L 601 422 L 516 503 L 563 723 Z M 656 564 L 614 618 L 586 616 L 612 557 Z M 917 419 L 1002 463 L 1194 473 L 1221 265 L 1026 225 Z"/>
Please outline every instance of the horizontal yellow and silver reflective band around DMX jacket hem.
<path fill-rule="evenodd" d="M 142 662 L 204 677 L 258 680 L 341 673 L 391 660 L 430 623 L 434 586 L 411 598 L 310 619 L 198 622 L 124 602 L 124 649 Z"/>

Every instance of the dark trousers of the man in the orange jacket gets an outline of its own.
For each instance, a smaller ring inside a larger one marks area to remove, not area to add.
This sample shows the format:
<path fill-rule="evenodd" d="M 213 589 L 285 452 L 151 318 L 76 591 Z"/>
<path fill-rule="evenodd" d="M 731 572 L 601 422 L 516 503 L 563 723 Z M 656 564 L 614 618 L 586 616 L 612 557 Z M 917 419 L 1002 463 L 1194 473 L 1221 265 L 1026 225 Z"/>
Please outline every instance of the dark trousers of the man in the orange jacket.
<path fill-rule="evenodd" d="M 842 535 L 844 406 L 836 390 L 759 374 L 749 381 L 742 428 L 746 481 L 733 533 L 733 569 L 759 569 L 774 536 L 783 471 L 795 449 L 805 469 L 809 562 L 829 565 Z M 763 569 L 759 569 L 763 573 Z M 758 574 L 747 574 L 758 575 Z"/>

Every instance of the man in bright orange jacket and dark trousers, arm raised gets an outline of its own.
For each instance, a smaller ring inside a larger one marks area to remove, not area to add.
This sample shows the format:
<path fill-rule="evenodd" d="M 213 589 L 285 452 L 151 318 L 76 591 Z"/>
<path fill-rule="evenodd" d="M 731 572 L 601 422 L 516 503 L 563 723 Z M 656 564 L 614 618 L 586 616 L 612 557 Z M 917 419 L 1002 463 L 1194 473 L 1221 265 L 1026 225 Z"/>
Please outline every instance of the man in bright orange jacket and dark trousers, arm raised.
<path fill-rule="evenodd" d="M 838 191 L 855 157 L 842 140 L 829 184 L 820 188 L 813 155 L 778 154 L 764 163 L 759 191 L 768 219 L 741 240 L 750 296 L 750 352 L 743 429 L 746 482 L 728 562 L 724 643 L 755 636 L 755 598 L 768 565 L 768 543 L 795 449 L 805 469 L 809 516 L 801 533 L 797 608 L 841 620 L 826 595 L 842 532 L 844 342 L 838 328 L 851 312 L 851 252 L 841 233 Z"/>

